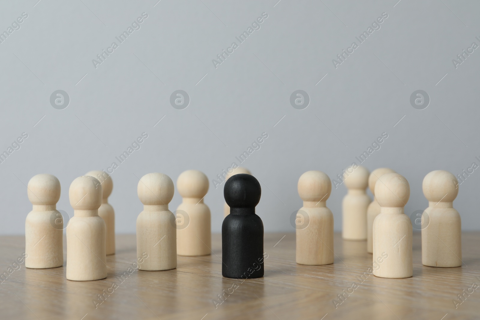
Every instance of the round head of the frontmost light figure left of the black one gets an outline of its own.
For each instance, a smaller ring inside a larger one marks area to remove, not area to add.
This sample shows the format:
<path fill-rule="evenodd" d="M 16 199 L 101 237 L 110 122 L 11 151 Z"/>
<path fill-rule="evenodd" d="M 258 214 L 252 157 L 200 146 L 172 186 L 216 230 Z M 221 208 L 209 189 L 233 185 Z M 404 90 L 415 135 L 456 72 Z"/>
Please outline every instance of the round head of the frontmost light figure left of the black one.
<path fill-rule="evenodd" d="M 70 205 L 74 210 L 95 210 L 102 204 L 102 185 L 92 176 L 73 180 L 68 190 Z"/>

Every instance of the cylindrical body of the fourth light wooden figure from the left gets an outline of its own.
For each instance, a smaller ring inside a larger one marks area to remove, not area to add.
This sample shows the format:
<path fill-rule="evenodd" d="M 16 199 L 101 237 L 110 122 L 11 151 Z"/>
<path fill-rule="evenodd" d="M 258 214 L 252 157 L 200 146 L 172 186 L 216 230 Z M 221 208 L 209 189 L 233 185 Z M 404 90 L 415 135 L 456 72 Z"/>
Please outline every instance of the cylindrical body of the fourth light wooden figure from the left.
<path fill-rule="evenodd" d="M 168 205 L 144 205 L 137 217 L 137 258 L 146 252 L 148 259 L 139 270 L 159 271 L 177 267 L 177 229 Z"/>

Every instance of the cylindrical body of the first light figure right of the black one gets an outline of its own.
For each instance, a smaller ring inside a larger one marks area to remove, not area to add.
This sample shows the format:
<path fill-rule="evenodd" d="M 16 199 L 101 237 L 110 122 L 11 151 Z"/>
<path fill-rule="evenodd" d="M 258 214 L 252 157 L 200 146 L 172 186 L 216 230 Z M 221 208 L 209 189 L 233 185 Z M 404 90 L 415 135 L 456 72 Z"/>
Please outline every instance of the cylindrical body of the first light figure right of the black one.
<path fill-rule="evenodd" d="M 306 265 L 331 264 L 334 261 L 333 214 L 324 201 L 315 207 L 305 207 L 305 202 L 303 205 L 299 213 L 308 214 L 309 224 L 296 230 L 296 261 Z"/>

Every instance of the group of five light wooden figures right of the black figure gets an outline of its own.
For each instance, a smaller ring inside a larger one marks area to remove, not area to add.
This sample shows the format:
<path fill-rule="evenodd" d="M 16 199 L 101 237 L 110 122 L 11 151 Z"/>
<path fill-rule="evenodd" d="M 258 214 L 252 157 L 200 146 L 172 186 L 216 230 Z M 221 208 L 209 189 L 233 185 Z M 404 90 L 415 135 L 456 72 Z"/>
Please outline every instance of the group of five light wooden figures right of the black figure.
<path fill-rule="evenodd" d="M 372 261 L 382 260 L 373 274 L 382 278 L 408 278 L 413 275 L 412 223 L 404 213 L 410 186 L 403 176 L 389 168 L 369 173 L 363 166 L 348 167 L 343 176 L 348 189 L 343 198 L 342 237 L 366 240 Z M 366 193 L 367 187 L 373 201 Z M 332 183 L 321 171 L 307 171 L 298 183 L 303 207 L 297 228 L 296 258 L 299 264 L 324 265 L 334 262 L 333 214 L 325 201 Z M 422 264 L 431 267 L 462 265 L 461 220 L 453 208 L 458 180 L 448 171 L 435 170 L 423 179 L 423 194 L 429 206 L 416 225 L 421 229 Z M 305 219 L 302 215 L 307 215 Z M 301 224 L 308 220 L 308 226 Z M 388 257 L 388 259 L 384 259 Z"/>

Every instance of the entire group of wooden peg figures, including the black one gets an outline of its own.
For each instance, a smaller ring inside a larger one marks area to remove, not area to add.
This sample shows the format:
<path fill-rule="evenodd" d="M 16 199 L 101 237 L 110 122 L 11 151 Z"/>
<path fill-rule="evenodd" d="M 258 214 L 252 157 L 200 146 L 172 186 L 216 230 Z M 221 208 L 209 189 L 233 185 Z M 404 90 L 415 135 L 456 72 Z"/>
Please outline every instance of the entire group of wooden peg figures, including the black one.
<path fill-rule="evenodd" d="M 388 168 L 370 175 L 363 166 L 344 172 L 348 194 L 343 200 L 343 238 L 367 240 L 368 252 L 388 256 L 373 274 L 384 278 L 413 275 L 412 224 L 404 214 L 410 195 L 407 179 Z M 370 187 L 373 201 L 366 194 Z M 171 178 L 149 173 L 138 182 L 144 204 L 136 223 L 138 269 L 170 270 L 177 255 L 203 256 L 211 251 L 211 215 L 204 203 L 208 178 L 198 170 L 180 174 L 177 189 L 182 196 L 175 216 L 168 210 L 174 194 Z M 113 188 L 105 171 L 90 171 L 73 180 L 69 189 L 74 215 L 66 226 L 66 277 L 75 281 L 107 277 L 107 255 L 115 254 L 115 215 L 108 203 Z M 326 207 L 332 183 L 321 171 L 307 171 L 298 182 L 303 207 L 297 212 L 296 261 L 305 265 L 334 262 L 333 214 Z M 30 179 L 28 199 L 33 210 L 25 221 L 25 267 L 56 268 L 63 265 L 63 217 L 56 209 L 60 182 L 49 174 Z M 461 266 L 461 222 L 453 201 L 458 193 L 454 175 L 430 172 L 423 179 L 429 201 L 424 211 L 428 226 L 422 227 L 422 263 L 433 267 Z M 225 219 L 222 224 L 222 275 L 227 278 L 258 278 L 264 275 L 264 226 L 255 213 L 261 187 L 242 167 L 229 172 L 224 186 Z M 307 218 L 307 219 L 305 219 Z M 300 223 L 297 225 L 297 221 Z M 308 221 L 308 225 L 302 225 Z M 425 223 L 424 217 L 421 219 Z"/>

